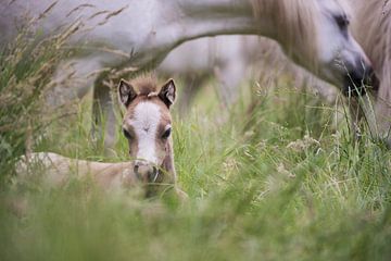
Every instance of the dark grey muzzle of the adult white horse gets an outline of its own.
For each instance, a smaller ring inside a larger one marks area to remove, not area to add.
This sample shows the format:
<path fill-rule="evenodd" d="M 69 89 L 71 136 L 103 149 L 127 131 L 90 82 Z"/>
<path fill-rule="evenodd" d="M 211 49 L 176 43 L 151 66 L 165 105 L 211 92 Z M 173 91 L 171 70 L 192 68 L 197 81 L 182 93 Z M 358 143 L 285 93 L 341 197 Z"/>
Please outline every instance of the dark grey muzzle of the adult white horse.
<path fill-rule="evenodd" d="M 343 94 L 345 96 L 365 95 L 367 90 L 377 91 L 380 82 L 370 64 L 358 62 L 351 69 L 343 79 Z"/>

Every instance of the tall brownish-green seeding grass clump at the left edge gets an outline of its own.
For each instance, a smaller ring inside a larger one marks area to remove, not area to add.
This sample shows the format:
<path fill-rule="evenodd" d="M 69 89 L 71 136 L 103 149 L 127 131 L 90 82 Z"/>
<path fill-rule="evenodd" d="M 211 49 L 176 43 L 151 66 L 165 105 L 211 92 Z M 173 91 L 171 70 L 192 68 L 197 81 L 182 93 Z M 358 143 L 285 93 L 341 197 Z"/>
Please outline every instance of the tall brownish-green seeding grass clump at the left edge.
<path fill-rule="evenodd" d="M 37 130 L 53 120 L 41 101 L 55 66 L 66 54 L 61 47 L 71 32 L 51 38 L 38 33 L 31 38 L 31 34 L 29 29 L 21 32 L 0 50 L 0 184 L 9 181 L 15 160 L 28 149 Z"/>

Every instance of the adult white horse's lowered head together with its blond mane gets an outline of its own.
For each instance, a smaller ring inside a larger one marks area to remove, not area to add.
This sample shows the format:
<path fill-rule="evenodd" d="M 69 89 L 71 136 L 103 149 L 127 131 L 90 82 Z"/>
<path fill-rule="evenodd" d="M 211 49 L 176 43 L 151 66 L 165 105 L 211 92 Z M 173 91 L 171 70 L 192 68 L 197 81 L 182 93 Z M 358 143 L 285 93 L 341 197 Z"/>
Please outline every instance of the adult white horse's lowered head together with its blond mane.
<path fill-rule="evenodd" d="M 361 89 L 363 84 L 378 87 L 368 58 L 351 35 L 351 15 L 344 0 L 274 2 L 280 13 L 280 20 L 274 23 L 282 27 L 276 38 L 297 63 L 343 86 L 344 94 Z"/>

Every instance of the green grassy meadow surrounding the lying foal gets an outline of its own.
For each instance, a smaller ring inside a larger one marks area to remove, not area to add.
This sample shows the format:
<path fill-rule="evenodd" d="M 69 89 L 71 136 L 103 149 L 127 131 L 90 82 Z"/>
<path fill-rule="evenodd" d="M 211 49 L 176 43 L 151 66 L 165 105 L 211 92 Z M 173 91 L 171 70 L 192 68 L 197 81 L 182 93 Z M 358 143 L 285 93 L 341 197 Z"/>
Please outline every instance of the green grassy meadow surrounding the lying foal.
<path fill-rule="evenodd" d="M 283 75 L 243 83 L 230 110 L 213 80 L 186 117 L 174 109 L 184 203 L 108 195 L 88 181 L 15 186 L 26 149 L 128 159 L 119 129 L 110 157 L 91 139 L 90 97 L 48 113 L 63 41 L 20 39 L 0 55 L 0 260 L 391 259 L 390 150 L 367 129 L 353 140 L 344 107 L 292 88 Z M 337 110 L 345 115 L 339 123 Z M 22 215 L 8 206 L 17 197 L 28 200 Z"/>

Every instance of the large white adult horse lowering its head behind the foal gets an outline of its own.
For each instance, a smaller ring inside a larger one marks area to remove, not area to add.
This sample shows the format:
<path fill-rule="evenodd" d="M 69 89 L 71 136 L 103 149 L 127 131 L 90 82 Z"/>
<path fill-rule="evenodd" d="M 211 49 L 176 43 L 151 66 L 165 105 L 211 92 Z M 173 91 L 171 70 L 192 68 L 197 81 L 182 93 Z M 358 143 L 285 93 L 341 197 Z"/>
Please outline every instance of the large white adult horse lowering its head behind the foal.
<path fill-rule="evenodd" d="M 149 69 L 179 44 L 198 37 L 252 34 L 277 40 L 295 63 L 341 86 L 345 94 L 375 79 L 368 59 L 350 34 L 344 0 L 1 1 L 2 42 L 14 37 L 15 21 L 26 13 L 39 16 L 37 26 L 46 33 L 74 21 L 89 28 L 70 40 L 87 50 L 74 61 L 81 77 L 86 70 L 106 65 Z M 83 66 L 85 61 L 88 66 Z M 96 78 L 86 86 L 92 82 Z M 96 83 L 94 98 L 103 108 L 110 104 L 108 92 Z"/>

